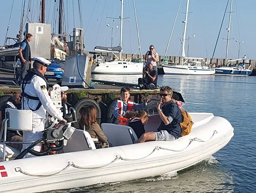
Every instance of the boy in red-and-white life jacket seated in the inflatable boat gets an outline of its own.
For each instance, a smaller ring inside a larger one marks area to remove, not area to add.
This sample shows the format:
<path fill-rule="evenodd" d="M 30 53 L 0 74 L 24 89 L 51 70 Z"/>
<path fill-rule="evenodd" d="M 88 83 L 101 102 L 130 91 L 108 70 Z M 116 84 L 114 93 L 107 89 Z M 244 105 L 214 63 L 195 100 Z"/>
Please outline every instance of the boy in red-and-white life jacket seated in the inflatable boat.
<path fill-rule="evenodd" d="M 117 98 L 114 103 L 113 115 L 110 123 L 118 124 L 117 117 L 123 117 L 126 111 L 142 110 L 145 108 L 145 103 L 134 103 L 130 100 L 130 88 L 123 87 L 120 90 L 121 97 Z"/>

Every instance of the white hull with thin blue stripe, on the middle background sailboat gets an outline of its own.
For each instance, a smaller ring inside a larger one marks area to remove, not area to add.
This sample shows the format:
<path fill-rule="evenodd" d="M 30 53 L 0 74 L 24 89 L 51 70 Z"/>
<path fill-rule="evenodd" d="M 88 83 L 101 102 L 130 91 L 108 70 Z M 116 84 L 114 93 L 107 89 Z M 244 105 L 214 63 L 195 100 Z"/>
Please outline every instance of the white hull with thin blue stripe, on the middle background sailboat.
<path fill-rule="evenodd" d="M 195 69 L 188 68 L 188 66 L 166 66 L 163 65 L 164 74 L 170 75 L 213 75 L 215 73 L 215 69 Z"/>

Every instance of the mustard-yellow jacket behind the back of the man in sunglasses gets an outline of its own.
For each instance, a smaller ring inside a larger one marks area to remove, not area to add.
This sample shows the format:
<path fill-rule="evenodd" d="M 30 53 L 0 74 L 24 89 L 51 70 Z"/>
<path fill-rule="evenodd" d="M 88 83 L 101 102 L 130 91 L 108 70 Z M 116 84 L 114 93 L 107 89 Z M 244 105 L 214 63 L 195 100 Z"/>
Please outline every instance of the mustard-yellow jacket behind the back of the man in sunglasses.
<path fill-rule="evenodd" d="M 181 127 L 180 136 L 186 136 L 191 132 L 192 125 L 194 124 L 191 116 L 184 109 L 181 110 L 182 122 L 179 123 Z"/>

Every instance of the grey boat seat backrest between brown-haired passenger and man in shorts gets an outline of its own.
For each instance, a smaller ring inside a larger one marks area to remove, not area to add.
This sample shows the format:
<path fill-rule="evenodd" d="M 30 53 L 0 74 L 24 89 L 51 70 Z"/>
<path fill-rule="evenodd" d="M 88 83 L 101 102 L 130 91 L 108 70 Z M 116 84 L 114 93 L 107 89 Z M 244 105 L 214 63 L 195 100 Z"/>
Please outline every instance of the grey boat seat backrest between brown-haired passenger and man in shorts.
<path fill-rule="evenodd" d="M 104 123 L 101 127 L 113 147 L 133 144 L 138 140 L 136 133 L 129 126 Z"/>

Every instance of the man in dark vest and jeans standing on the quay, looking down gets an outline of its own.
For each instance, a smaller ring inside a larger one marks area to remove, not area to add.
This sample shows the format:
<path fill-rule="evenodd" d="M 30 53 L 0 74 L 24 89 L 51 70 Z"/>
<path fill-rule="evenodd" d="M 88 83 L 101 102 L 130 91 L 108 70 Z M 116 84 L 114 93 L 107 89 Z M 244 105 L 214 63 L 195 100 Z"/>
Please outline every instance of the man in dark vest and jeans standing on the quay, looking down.
<path fill-rule="evenodd" d="M 22 41 L 21 46 L 19 48 L 19 57 L 22 63 L 22 72 L 19 77 L 19 83 L 23 81 L 29 69 L 29 64 L 31 64 L 31 51 L 28 42 L 32 41 L 32 36 L 33 35 L 31 33 L 27 33 L 26 39 Z"/>

